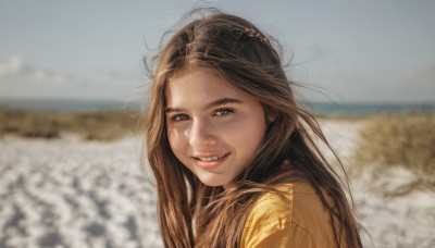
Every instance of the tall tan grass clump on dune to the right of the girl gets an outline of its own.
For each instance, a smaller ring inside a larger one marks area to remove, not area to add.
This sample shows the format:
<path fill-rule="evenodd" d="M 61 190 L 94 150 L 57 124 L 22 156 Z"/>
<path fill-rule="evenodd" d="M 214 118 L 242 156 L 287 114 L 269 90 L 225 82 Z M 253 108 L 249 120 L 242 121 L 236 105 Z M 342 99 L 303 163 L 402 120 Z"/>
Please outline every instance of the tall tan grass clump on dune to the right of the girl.
<path fill-rule="evenodd" d="M 413 172 L 417 187 L 435 188 L 435 114 L 407 112 L 369 119 L 356 149 L 360 168 L 405 168 Z"/>

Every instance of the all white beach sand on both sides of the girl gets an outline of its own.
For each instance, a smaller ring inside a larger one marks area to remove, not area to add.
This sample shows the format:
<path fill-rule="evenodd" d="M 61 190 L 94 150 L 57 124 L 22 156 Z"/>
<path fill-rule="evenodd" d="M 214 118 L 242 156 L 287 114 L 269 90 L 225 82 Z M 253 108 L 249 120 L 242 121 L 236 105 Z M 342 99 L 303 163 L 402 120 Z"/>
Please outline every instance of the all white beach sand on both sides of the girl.
<path fill-rule="evenodd" d="M 363 122 L 323 121 L 325 135 L 349 158 Z M 137 137 L 112 142 L 0 138 L 0 247 L 161 247 L 156 193 L 145 179 Z M 382 197 L 418 179 L 397 170 L 373 181 L 353 176 L 364 247 L 435 247 L 435 194 Z"/>

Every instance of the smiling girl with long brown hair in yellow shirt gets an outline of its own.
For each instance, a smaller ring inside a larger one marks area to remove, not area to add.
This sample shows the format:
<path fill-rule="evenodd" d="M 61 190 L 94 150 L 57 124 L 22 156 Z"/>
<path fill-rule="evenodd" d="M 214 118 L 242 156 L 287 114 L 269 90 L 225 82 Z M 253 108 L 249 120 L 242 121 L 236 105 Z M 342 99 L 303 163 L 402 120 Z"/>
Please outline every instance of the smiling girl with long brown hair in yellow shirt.
<path fill-rule="evenodd" d="M 361 247 L 273 44 L 213 11 L 154 58 L 146 141 L 165 247 Z"/>

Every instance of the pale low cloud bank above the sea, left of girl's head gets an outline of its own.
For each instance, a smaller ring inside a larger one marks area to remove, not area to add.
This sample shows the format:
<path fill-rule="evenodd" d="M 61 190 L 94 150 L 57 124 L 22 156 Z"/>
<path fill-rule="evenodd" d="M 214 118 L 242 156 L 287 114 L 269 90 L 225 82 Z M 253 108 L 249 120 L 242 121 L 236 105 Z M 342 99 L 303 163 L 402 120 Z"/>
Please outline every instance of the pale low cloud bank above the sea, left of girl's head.
<path fill-rule="evenodd" d="M 0 62 L 0 98 L 122 100 L 138 83 L 130 75 L 109 69 L 69 74 L 34 66 L 21 57 Z"/>

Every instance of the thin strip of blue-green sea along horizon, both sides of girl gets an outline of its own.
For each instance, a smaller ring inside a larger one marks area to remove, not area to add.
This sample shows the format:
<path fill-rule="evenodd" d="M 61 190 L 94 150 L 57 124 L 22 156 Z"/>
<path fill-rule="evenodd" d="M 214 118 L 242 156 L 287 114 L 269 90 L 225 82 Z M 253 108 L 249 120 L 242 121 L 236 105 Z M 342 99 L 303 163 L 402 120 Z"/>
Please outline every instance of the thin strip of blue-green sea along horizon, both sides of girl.
<path fill-rule="evenodd" d="M 90 100 L 1 100 L 0 108 L 21 110 L 47 110 L 47 111 L 99 111 L 99 110 L 139 110 L 144 102 L 126 101 L 90 101 Z M 378 112 L 402 113 L 407 111 L 435 112 L 434 103 L 393 104 L 393 103 L 306 103 L 303 108 L 314 114 L 371 114 Z"/>

